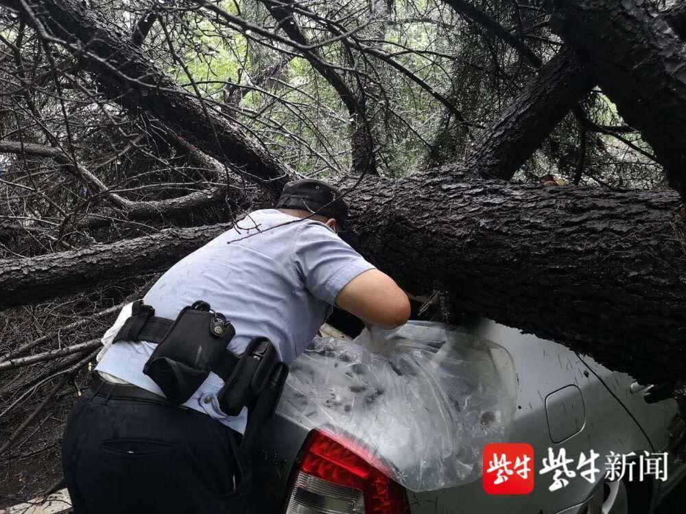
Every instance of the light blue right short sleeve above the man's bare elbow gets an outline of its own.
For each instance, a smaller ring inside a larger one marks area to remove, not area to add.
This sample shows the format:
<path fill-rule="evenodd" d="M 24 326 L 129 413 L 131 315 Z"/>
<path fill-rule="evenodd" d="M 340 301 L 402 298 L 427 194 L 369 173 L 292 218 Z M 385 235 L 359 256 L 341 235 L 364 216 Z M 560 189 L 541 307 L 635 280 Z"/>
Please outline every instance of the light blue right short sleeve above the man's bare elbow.
<path fill-rule="evenodd" d="M 298 233 L 294 261 L 305 287 L 331 305 L 348 282 L 374 268 L 323 223 L 306 222 Z"/>

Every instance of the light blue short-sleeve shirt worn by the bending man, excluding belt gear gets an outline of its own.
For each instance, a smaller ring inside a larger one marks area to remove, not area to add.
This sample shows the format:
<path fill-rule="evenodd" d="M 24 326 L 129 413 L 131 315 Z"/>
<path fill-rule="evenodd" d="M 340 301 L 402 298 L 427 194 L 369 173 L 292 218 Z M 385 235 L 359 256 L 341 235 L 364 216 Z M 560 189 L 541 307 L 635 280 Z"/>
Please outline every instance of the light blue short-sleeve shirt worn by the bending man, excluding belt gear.
<path fill-rule="evenodd" d="M 229 344 L 244 352 L 253 337 L 268 337 L 286 363 L 300 355 L 331 313 L 341 289 L 373 266 L 324 223 L 276 209 L 257 210 L 169 269 L 143 297 L 155 315 L 174 319 L 198 299 L 224 313 L 236 329 Z M 152 343 L 119 341 L 96 369 L 162 394 L 143 374 Z M 205 380 L 185 406 L 244 432 L 246 411 L 228 417 L 217 393 L 222 380 Z"/>

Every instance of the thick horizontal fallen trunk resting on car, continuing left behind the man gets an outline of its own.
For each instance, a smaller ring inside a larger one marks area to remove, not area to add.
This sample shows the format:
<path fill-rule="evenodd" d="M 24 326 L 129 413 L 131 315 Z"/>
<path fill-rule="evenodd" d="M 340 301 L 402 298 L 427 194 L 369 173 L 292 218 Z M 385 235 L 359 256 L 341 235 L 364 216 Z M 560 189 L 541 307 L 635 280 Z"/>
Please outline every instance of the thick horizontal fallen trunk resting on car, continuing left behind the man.
<path fill-rule="evenodd" d="M 686 374 L 676 193 L 505 185 L 452 168 L 366 178 L 348 200 L 348 240 L 408 290 L 438 284 L 466 312 L 565 343 L 643 382 Z M 0 262 L 0 304 L 169 265 L 229 226 Z"/>

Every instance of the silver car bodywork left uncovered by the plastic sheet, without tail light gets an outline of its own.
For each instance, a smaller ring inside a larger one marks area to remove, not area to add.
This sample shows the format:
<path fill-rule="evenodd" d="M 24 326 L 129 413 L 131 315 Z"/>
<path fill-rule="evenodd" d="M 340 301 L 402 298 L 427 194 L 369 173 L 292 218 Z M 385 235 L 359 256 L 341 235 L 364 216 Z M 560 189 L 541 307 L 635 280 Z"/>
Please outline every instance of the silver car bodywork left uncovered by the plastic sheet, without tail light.
<path fill-rule="evenodd" d="M 517 410 L 510 442 L 534 448 L 534 489 L 526 495 L 488 495 L 477 480 L 438 491 L 408 492 L 414 514 L 483 511 L 489 513 L 581 513 L 602 496 L 606 455 L 661 452 L 670 443 L 668 426 L 678 413 L 674 400 L 647 404 L 629 388 L 633 380 L 610 371 L 591 358 L 578 356 L 563 345 L 522 334 L 488 319 L 463 328 L 503 345 L 512 355 L 517 371 Z M 625 391 L 626 389 L 626 391 Z M 636 389 L 634 387 L 634 389 Z M 309 430 L 277 413 L 263 433 L 263 450 L 256 473 L 265 489 L 256 502 L 261 512 L 281 512 L 288 480 Z M 576 470 L 580 454 L 594 450 L 600 457 L 595 482 L 579 476 L 565 487 L 549 488 L 553 473 L 540 474 L 543 458 L 564 449 Z M 683 465 L 672 463 L 670 480 L 651 484 L 652 505 L 683 476 Z M 602 500 L 602 498 L 601 498 Z M 477 510 L 478 509 L 478 510 Z"/>

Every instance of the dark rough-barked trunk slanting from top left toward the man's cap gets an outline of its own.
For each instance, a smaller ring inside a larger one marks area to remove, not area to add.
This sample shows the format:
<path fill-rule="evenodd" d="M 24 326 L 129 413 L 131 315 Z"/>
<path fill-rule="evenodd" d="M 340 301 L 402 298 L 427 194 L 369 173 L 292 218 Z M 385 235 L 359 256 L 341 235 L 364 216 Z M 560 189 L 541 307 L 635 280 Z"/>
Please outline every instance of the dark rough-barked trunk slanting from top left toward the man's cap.
<path fill-rule="evenodd" d="M 222 162 L 230 162 L 235 171 L 255 180 L 273 181 L 278 188 L 292 174 L 213 106 L 179 88 L 127 34 L 88 8 L 88 3 L 0 0 L 0 5 L 20 12 L 29 25 L 44 32 L 42 36 L 60 40 L 93 73 L 103 93 L 123 107 L 137 112 L 145 106 L 170 130 L 183 132 L 190 143 L 221 156 Z"/>

